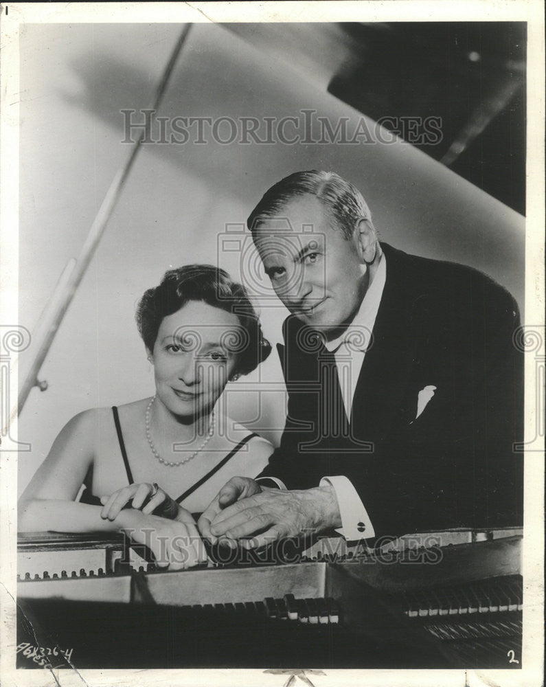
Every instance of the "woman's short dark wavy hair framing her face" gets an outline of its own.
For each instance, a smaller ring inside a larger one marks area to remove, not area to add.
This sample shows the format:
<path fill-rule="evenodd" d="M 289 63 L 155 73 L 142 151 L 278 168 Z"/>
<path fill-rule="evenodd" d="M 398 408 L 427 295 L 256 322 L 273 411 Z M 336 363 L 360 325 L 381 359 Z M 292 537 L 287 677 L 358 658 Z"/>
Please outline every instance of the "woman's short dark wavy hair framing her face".
<path fill-rule="evenodd" d="M 226 271 L 211 264 L 186 264 L 170 269 L 159 286 L 144 292 L 136 319 L 146 348 L 154 349 L 163 317 L 176 313 L 190 301 L 201 301 L 239 318 L 242 336 L 231 333 L 232 348 L 238 355 L 235 372 L 249 374 L 269 356 L 271 345 L 262 335 L 258 313 L 246 289 L 231 280 Z"/>

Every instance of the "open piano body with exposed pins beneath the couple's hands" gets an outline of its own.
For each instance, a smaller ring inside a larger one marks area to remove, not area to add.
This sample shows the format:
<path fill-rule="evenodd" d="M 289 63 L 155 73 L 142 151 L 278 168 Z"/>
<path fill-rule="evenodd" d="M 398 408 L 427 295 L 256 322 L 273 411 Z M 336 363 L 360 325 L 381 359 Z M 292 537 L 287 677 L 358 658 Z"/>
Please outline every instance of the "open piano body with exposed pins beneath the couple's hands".
<path fill-rule="evenodd" d="M 27 534 L 19 668 L 521 668 L 521 529 L 212 548 L 159 570 L 121 538 Z"/>

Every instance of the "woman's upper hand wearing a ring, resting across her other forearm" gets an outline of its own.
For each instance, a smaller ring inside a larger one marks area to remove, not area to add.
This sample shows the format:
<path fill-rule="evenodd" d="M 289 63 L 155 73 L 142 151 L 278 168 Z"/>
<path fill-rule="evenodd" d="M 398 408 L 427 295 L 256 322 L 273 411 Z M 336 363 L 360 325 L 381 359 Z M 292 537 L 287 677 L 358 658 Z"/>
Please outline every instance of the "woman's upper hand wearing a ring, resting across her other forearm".
<path fill-rule="evenodd" d="M 110 496 L 101 496 L 100 502 L 102 504 L 100 517 L 104 520 L 115 520 L 122 508 L 132 502 L 131 506 L 141 510 L 145 515 L 153 513 L 170 520 L 185 521 L 185 518 L 179 517 L 180 511 L 184 509 L 155 483 L 129 484 Z"/>

